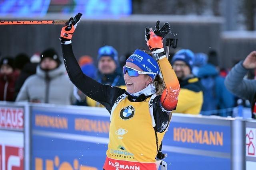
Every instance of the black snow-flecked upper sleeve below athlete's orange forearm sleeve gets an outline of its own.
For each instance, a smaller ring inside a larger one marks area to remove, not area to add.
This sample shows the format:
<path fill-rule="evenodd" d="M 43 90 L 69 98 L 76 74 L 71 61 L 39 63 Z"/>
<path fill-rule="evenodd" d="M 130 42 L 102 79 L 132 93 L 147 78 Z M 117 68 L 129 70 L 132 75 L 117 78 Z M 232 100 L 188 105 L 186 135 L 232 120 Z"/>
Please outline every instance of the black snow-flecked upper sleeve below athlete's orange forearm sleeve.
<path fill-rule="evenodd" d="M 156 96 L 153 103 L 153 115 L 156 123 L 156 132 L 162 133 L 169 125 L 170 111 L 163 111 L 164 108 L 160 103 L 161 96 Z"/>

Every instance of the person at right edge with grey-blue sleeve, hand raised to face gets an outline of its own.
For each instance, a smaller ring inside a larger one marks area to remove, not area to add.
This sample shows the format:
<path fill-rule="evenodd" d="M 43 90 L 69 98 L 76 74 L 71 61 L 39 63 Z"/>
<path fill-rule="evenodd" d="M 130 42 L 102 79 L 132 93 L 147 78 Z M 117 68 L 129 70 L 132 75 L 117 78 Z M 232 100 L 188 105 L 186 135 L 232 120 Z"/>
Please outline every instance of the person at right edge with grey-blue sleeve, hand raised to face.
<path fill-rule="evenodd" d="M 252 51 L 244 61 L 240 61 L 230 70 L 225 85 L 236 96 L 250 101 L 252 118 L 256 119 L 256 80 L 244 79 L 250 69 L 256 69 L 256 51 Z"/>

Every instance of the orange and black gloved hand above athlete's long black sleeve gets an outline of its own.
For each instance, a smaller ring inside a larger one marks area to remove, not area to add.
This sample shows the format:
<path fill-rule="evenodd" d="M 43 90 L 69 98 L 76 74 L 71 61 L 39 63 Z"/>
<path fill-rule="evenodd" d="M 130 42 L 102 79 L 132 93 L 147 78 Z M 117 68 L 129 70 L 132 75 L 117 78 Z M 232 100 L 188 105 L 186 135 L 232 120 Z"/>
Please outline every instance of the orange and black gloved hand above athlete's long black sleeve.
<path fill-rule="evenodd" d="M 70 44 L 72 35 L 76 29 L 77 24 L 80 22 L 82 14 L 79 12 L 74 18 L 70 18 L 66 25 L 62 27 L 60 33 L 60 42 L 62 44 Z"/>

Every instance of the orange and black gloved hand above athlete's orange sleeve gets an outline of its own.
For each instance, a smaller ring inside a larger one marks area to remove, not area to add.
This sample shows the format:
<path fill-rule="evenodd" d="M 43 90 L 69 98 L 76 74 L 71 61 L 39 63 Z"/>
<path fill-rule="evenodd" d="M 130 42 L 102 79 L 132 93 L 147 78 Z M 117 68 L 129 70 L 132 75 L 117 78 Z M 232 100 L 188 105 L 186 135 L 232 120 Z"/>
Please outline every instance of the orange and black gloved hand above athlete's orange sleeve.
<path fill-rule="evenodd" d="M 156 49 L 164 48 L 163 39 L 170 32 L 170 24 L 164 23 L 164 25 L 159 29 L 160 21 L 156 22 L 156 28 L 153 31 L 152 28 L 146 27 L 145 37 L 147 41 L 148 48 L 151 51 L 155 51 Z"/>

